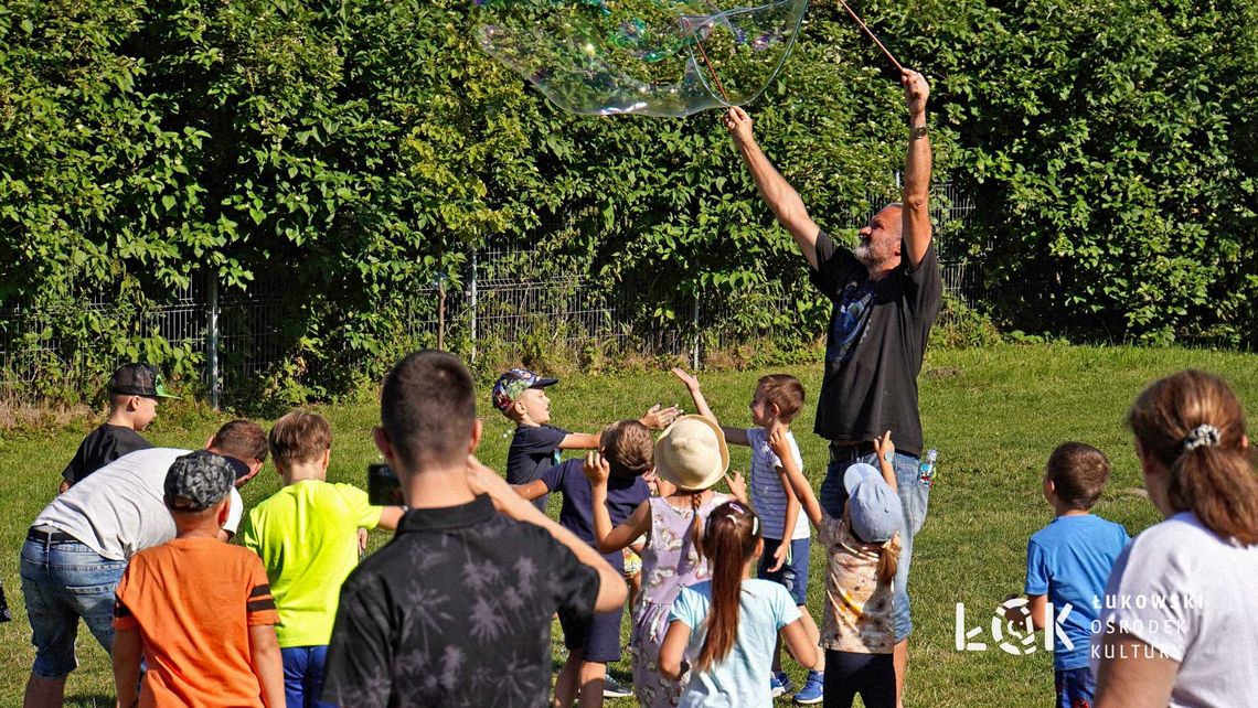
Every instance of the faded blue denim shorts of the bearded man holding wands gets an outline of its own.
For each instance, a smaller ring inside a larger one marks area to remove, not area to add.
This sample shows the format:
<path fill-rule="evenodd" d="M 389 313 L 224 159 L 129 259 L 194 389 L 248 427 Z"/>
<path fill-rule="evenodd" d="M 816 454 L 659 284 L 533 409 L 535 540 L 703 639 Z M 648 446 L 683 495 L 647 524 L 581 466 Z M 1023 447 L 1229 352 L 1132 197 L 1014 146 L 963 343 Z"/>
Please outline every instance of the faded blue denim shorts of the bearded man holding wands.
<path fill-rule="evenodd" d="M 858 455 L 853 459 L 832 459 L 830 467 L 825 470 L 825 480 L 821 482 L 820 502 L 825 513 L 834 518 L 843 516 L 843 504 L 848 501 L 848 493 L 843 488 L 843 473 L 855 463 L 866 463 L 878 467 L 877 453 Z M 896 485 L 899 492 L 899 501 L 905 507 L 905 527 L 899 534 L 899 567 L 896 570 L 896 581 L 892 585 L 892 614 L 896 620 L 896 643 L 908 639 L 913 631 L 913 619 L 908 611 L 908 566 L 913 560 L 913 537 L 921 531 L 926 522 L 926 508 L 931 501 L 931 488 L 922 484 L 918 465 L 921 460 L 913 455 L 896 453 Z"/>

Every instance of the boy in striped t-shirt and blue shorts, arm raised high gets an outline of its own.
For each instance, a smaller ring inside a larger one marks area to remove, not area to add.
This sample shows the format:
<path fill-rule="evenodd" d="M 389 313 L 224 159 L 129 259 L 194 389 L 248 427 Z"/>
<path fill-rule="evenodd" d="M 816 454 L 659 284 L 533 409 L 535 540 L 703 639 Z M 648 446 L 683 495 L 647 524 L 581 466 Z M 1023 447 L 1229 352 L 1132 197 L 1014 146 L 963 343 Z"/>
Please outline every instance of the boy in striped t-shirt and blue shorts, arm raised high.
<path fill-rule="evenodd" d="M 716 416 L 708 407 L 703 391 L 699 390 L 698 379 L 681 368 L 673 368 L 673 375 L 686 385 L 699 415 L 715 421 Z M 782 459 L 769 445 L 770 434 L 781 429 L 795 467 L 804 469 L 804 458 L 799 453 L 799 445 L 795 444 L 795 436 L 790 433 L 791 421 L 804 407 L 804 385 L 789 373 L 761 376 L 756 381 L 756 392 L 751 397 L 750 407 L 752 428 L 722 425 L 721 430 L 728 444 L 751 448 L 751 501 L 765 523 L 762 529 L 765 552 L 760 556 L 756 577 L 776 582 L 790 592 L 803 617 L 804 630 L 816 644 L 820 640 L 820 631 L 808 611 L 808 571 L 811 551 L 808 517 L 800 513 L 799 499 L 782 477 Z M 793 689 L 790 679 L 781 670 L 780 645 L 774 650 L 770 684 L 774 698 Z M 824 687 L 823 656 L 816 667 L 808 672 L 808 678 L 795 693 L 794 702 L 799 705 L 821 703 L 825 695 Z"/>

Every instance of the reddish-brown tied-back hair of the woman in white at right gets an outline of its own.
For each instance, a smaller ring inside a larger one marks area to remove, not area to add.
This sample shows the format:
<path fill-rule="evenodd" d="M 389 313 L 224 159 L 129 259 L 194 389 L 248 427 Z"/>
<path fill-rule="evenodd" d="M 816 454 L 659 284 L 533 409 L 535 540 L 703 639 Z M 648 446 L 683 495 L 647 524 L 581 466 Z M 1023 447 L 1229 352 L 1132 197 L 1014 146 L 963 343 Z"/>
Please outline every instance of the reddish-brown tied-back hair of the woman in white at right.
<path fill-rule="evenodd" d="M 1258 543 L 1258 478 L 1245 449 L 1245 415 L 1222 379 L 1180 371 L 1150 385 L 1127 414 L 1146 455 L 1170 470 L 1166 501 L 1210 531 Z"/>

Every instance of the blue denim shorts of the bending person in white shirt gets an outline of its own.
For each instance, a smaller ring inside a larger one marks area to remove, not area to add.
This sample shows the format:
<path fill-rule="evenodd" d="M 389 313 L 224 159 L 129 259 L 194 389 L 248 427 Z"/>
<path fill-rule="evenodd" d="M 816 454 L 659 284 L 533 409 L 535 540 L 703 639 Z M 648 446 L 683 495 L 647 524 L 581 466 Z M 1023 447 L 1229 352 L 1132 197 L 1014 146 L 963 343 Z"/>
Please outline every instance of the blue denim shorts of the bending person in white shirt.
<path fill-rule="evenodd" d="M 21 592 L 35 645 L 31 673 L 62 678 L 78 667 L 78 620 L 106 651 L 113 650 L 113 591 L 126 561 L 111 561 L 78 541 L 26 539 L 21 547 Z"/>

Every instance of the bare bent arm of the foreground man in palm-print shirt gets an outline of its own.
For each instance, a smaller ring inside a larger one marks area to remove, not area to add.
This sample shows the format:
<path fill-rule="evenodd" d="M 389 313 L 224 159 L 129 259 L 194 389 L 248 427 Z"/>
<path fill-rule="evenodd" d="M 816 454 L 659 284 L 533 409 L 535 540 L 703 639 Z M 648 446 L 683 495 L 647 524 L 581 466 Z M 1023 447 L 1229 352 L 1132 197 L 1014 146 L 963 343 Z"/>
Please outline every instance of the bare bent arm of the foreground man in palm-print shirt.
<path fill-rule="evenodd" d="M 571 551 L 581 565 L 589 566 L 599 573 L 599 595 L 594 600 L 595 612 L 609 612 L 624 605 L 625 597 L 629 596 L 624 573 L 614 570 L 589 543 L 512 492 L 506 479 L 481 464 L 481 460 L 476 459 L 474 455 L 468 455 L 468 483 L 477 494 L 488 494 L 499 512 L 515 521 L 545 528 L 555 541 Z"/>

